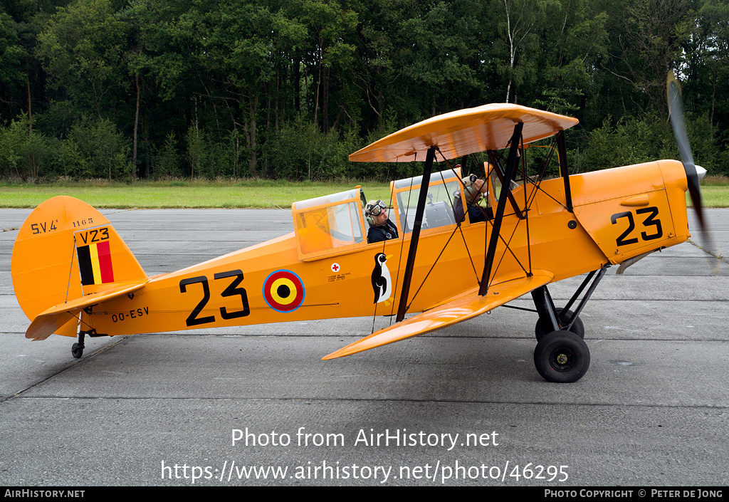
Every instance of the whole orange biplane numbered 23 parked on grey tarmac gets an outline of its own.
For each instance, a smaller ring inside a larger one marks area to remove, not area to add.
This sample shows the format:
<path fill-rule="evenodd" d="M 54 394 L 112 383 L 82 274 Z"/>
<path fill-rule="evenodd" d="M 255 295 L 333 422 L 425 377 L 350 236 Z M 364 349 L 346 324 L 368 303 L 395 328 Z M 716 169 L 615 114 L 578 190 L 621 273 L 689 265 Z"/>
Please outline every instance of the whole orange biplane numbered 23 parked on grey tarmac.
<path fill-rule="evenodd" d="M 690 236 L 685 192 L 690 188 L 700 211 L 703 170 L 682 147 L 689 155 L 683 163 L 570 175 L 564 131 L 576 123 L 514 104 L 432 117 L 350 155 L 424 161 L 421 176 L 391 183 L 397 239 L 367 243 L 366 199 L 356 187 L 293 204 L 293 233 L 155 277 L 147 277 L 101 213 L 75 198 L 52 198 L 23 224 L 12 254 L 15 294 L 32 321 L 26 337 L 78 336 L 71 352 L 79 358 L 85 336 L 395 316 L 389 327 L 324 357 L 332 359 L 445 328 L 531 293 L 537 371 L 550 382 L 577 381 L 590 363 L 579 317 L 590 295 L 607 267 L 627 266 Z M 527 147 L 545 139 L 552 141 L 540 150 L 545 158 L 528 166 Z M 463 164 L 479 153 L 488 161 L 486 206 L 478 209 L 484 221 L 477 222 L 458 208 L 467 201 L 468 173 L 449 161 Z M 434 172 L 435 161 L 445 169 Z M 572 299 L 556 307 L 548 285 L 580 274 L 587 277 Z"/>

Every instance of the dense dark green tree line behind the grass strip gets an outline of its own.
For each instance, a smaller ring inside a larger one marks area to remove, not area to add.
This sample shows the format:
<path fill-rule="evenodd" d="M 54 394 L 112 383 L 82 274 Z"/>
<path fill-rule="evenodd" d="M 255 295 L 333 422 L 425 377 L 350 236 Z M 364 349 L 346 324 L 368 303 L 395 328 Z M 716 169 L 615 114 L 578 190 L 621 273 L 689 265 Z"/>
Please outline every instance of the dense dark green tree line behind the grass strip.
<path fill-rule="evenodd" d="M 348 153 L 510 102 L 580 119 L 578 171 L 729 174 L 729 0 L 5 0 L 0 177 L 379 178 Z"/>

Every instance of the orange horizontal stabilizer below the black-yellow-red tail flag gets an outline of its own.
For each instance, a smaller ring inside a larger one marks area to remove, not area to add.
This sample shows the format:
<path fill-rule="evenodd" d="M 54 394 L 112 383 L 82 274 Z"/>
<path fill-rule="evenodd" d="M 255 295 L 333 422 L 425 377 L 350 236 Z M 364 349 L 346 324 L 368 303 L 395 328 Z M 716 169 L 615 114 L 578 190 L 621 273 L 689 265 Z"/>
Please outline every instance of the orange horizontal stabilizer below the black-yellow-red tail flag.
<path fill-rule="evenodd" d="M 28 326 L 26 338 L 34 340 L 47 339 L 55 331 L 58 331 L 58 328 L 61 328 L 62 325 L 77 317 L 79 312 L 85 307 L 132 293 L 147 284 L 148 280 L 139 279 L 136 281 L 121 282 L 112 289 L 105 290 L 101 293 L 92 293 L 87 296 L 82 296 L 82 298 L 66 302 L 65 304 L 52 306 L 34 318 L 31 325 Z"/>

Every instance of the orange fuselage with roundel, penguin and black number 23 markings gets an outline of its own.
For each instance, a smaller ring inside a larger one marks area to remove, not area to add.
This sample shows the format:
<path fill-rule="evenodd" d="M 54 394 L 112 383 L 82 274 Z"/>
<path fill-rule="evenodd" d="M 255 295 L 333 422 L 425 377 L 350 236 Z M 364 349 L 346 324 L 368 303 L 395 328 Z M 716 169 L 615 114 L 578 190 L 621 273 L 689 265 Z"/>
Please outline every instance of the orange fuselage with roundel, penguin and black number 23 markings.
<path fill-rule="evenodd" d="M 526 217 L 504 214 L 490 284 L 551 271 L 566 279 L 621 263 L 688 236 L 685 172 L 677 161 L 658 161 L 570 177 L 574 212 L 561 179 L 512 190 Z M 495 204 L 493 190 L 489 192 Z M 396 202 L 393 202 L 393 207 Z M 394 211 L 397 225 L 404 228 Z M 405 218 L 405 216 L 402 216 Z M 364 223 L 362 223 L 364 225 Z M 295 227 L 298 230 L 298 227 Z M 363 226 L 364 228 L 364 226 Z M 421 232 L 408 296 L 408 313 L 422 312 L 478 284 L 491 222 L 468 221 Z M 82 325 L 125 335 L 279 323 L 397 312 L 411 233 L 398 239 L 356 242 L 322 258 L 302 259 L 300 231 L 229 255 L 149 279 L 128 296 L 82 313 Z M 377 298 L 375 256 L 386 256 L 389 298 Z"/>

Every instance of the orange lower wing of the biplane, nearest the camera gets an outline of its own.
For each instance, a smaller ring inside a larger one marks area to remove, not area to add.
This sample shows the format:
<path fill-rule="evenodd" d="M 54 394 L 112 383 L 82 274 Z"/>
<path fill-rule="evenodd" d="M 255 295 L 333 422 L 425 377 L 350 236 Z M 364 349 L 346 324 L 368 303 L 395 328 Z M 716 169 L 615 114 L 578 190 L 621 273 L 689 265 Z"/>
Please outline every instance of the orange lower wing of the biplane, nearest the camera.
<path fill-rule="evenodd" d="M 356 354 L 364 350 L 391 344 L 393 341 L 404 340 L 411 336 L 418 336 L 430 333 L 447 326 L 471 319 L 477 315 L 495 309 L 499 305 L 519 298 L 531 290 L 549 284 L 554 275 L 545 270 L 534 271 L 531 277 L 516 277 L 505 279 L 499 284 L 491 285 L 486 296 L 478 294 L 478 287 L 474 287 L 459 296 L 452 298 L 447 303 L 437 306 L 434 309 L 426 310 L 410 319 L 383 328 L 370 336 L 355 341 L 346 347 L 341 348 L 330 355 L 324 356 L 323 360 L 343 358 L 346 355 Z"/>

